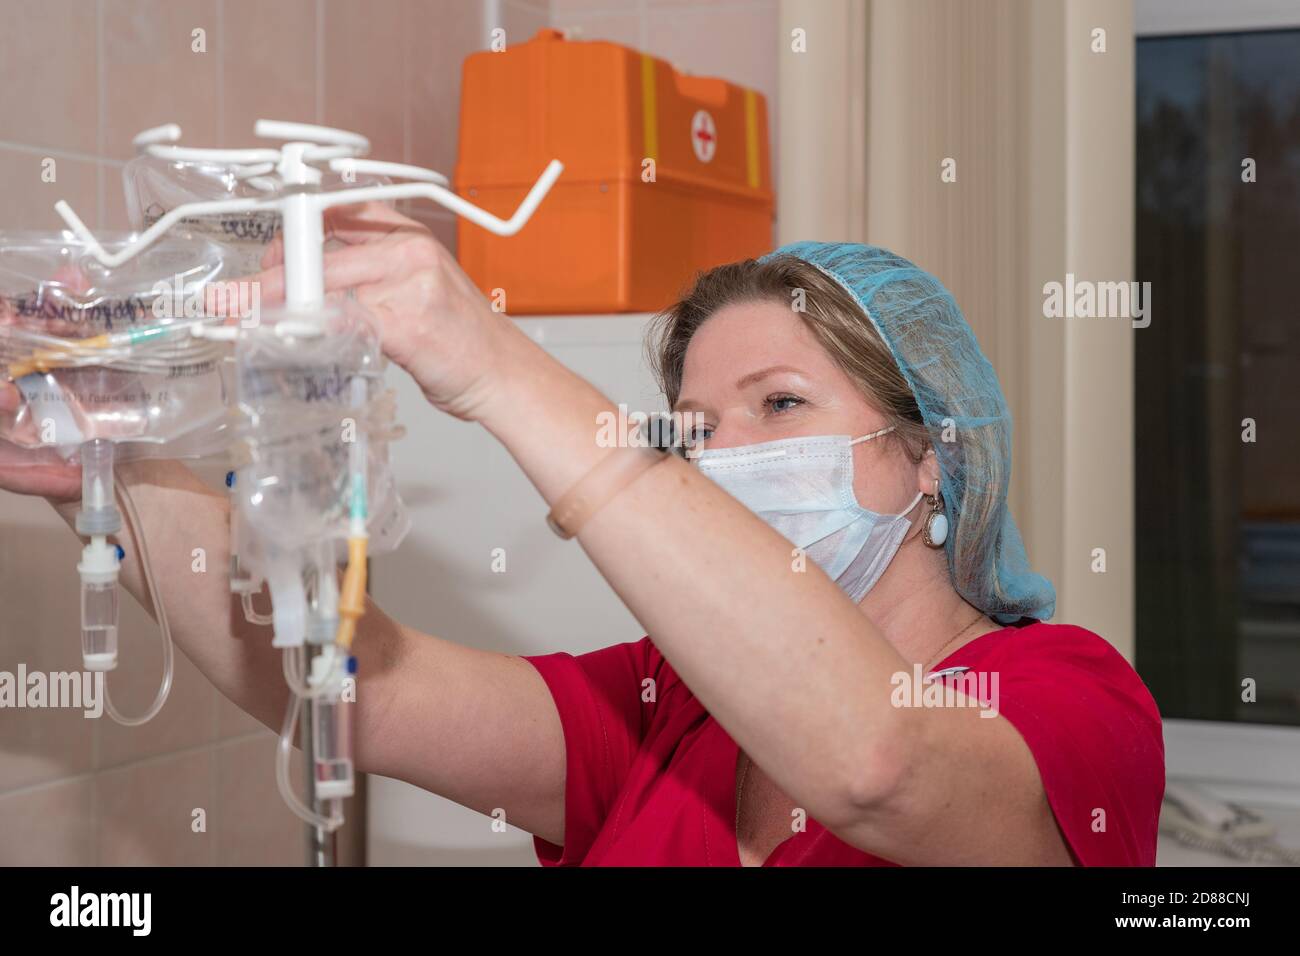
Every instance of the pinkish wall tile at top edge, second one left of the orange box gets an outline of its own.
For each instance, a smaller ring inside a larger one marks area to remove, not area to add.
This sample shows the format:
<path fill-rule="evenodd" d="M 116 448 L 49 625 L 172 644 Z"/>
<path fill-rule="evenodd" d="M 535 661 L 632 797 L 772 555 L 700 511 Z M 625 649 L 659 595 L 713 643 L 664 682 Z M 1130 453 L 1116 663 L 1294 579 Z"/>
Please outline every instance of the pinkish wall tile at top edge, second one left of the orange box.
<path fill-rule="evenodd" d="M 404 5 L 325 0 L 322 10 L 322 122 L 368 137 L 372 157 L 400 163 L 406 155 Z"/>

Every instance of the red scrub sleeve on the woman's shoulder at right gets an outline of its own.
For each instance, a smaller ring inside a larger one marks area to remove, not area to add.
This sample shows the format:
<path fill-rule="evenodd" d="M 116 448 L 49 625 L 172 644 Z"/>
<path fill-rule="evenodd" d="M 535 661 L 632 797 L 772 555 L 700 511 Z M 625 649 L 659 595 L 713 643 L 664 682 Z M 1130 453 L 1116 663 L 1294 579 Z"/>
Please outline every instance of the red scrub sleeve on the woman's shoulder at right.
<path fill-rule="evenodd" d="M 1075 861 L 1154 866 L 1165 740 L 1136 671 L 1100 636 L 1061 624 L 1027 628 L 994 667 L 997 706 L 1034 753 Z"/>

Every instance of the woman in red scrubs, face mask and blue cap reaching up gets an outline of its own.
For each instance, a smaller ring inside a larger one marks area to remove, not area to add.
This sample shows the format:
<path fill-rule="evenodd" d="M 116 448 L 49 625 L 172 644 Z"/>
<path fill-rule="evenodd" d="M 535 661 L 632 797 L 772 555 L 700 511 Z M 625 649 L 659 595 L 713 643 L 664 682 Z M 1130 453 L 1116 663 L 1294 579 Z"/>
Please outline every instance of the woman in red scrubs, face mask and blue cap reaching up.
<path fill-rule="evenodd" d="M 1160 715 L 1102 637 L 1046 623 L 1006 503 L 1006 403 L 935 277 L 822 243 L 701 276 L 654 338 L 670 407 L 697 423 L 677 455 L 598 441 L 615 406 L 416 222 L 374 206 L 329 225 L 329 290 L 374 312 L 434 408 L 506 446 L 647 633 L 520 658 L 372 605 L 360 770 L 503 809 L 546 864 L 1154 862 Z M 282 280 L 273 251 L 264 298 Z M 65 516 L 72 477 L 0 471 Z M 225 499 L 176 463 L 124 480 L 185 609 L 176 641 L 278 726 L 265 635 L 181 557 L 224 540 Z M 897 693 L 918 671 L 942 692 Z"/>

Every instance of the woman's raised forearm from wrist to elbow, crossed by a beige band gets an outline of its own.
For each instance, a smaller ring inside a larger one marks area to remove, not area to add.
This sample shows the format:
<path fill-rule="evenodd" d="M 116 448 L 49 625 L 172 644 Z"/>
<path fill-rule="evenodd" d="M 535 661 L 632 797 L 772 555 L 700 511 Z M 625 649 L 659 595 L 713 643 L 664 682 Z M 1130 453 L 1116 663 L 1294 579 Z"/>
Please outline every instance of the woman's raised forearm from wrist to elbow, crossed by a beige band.
<path fill-rule="evenodd" d="M 551 505 L 611 454 L 615 406 L 523 333 L 481 420 Z M 502 381 L 504 380 L 504 381 Z M 906 662 L 811 562 L 686 462 L 638 477 L 578 540 L 692 692 L 826 822 L 896 769 L 889 679 Z M 802 567 L 802 564 L 798 564 Z"/>

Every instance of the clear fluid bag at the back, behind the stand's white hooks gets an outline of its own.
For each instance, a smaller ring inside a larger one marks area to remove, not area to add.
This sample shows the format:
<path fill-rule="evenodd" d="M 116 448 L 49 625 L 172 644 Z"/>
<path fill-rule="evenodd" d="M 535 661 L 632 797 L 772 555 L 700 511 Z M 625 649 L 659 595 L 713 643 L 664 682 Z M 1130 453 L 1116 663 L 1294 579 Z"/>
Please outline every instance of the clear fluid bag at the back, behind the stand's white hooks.
<path fill-rule="evenodd" d="M 350 176 L 322 172 L 321 191 L 382 186 L 389 179 L 382 176 Z M 252 176 L 231 164 L 172 160 L 140 153 L 122 170 L 126 189 L 126 212 L 135 229 L 148 229 L 162 216 L 185 203 L 218 199 L 274 198 L 283 190 L 283 182 L 274 172 Z M 250 276 L 261 268 L 266 245 L 280 235 L 281 217 L 274 209 L 247 212 L 218 212 L 183 219 L 173 228 L 191 235 L 216 242 L 228 250 L 228 277 Z"/>

